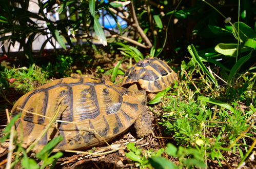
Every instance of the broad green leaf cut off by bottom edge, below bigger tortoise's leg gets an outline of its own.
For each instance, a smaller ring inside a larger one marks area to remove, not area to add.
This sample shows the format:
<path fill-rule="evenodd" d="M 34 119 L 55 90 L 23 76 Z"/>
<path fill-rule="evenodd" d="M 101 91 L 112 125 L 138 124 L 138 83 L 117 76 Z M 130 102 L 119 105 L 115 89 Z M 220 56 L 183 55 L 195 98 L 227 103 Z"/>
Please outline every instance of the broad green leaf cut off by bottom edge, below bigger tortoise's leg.
<path fill-rule="evenodd" d="M 170 162 L 164 157 L 152 157 L 152 158 L 149 158 L 148 161 L 154 168 L 159 168 L 159 169 L 178 168 L 175 164 L 173 164 L 172 162 Z"/>

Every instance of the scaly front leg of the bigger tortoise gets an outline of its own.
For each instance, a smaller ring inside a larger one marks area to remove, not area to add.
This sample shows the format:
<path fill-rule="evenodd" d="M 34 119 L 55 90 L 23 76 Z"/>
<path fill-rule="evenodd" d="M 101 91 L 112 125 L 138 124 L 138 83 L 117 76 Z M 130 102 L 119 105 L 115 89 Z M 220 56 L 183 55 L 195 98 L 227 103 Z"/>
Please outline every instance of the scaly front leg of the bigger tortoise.
<path fill-rule="evenodd" d="M 142 111 L 141 115 L 134 122 L 134 127 L 136 130 L 137 137 L 139 138 L 146 137 L 151 133 L 152 121 L 146 107 Z"/>

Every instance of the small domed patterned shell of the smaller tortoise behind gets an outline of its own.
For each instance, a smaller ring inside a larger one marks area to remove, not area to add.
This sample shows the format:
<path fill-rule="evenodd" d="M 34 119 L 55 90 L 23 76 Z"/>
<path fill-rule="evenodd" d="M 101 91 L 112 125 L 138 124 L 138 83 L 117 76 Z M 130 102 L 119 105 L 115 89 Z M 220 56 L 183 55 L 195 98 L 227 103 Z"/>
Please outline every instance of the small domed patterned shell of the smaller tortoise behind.
<path fill-rule="evenodd" d="M 164 61 L 155 57 L 138 61 L 124 76 L 121 86 L 139 83 L 142 89 L 150 93 L 163 91 L 178 80 L 178 75 Z"/>

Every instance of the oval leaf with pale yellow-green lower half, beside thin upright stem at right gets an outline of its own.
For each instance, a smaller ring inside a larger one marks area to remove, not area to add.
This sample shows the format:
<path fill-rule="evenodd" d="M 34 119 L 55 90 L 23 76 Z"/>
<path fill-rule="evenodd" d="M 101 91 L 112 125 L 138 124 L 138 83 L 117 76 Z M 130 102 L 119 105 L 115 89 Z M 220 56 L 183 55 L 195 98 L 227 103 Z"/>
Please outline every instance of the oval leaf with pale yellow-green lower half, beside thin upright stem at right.
<path fill-rule="evenodd" d="M 215 51 L 216 52 L 219 52 L 225 56 L 232 56 L 232 57 L 235 57 L 237 56 L 237 47 L 238 45 L 237 44 L 218 44 L 215 46 Z M 240 52 L 243 53 L 243 52 L 247 52 L 251 50 L 250 48 L 247 48 L 247 47 L 242 47 Z"/>

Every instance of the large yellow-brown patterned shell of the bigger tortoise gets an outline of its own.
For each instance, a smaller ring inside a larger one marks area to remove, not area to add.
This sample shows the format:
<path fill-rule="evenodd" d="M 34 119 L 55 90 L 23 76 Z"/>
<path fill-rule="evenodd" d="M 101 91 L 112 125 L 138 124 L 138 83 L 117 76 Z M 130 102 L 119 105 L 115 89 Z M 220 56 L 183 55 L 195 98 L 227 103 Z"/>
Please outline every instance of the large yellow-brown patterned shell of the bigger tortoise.
<path fill-rule="evenodd" d="M 57 149 L 99 145 L 105 142 L 102 138 L 108 141 L 129 128 L 144 107 L 133 91 L 107 80 L 57 79 L 30 91 L 14 104 L 12 116 L 22 113 L 15 125 L 18 133 L 23 132 L 25 146 L 41 134 L 57 109 L 57 120 L 65 122 L 53 124 L 37 147 L 58 135 L 64 140 Z"/>

